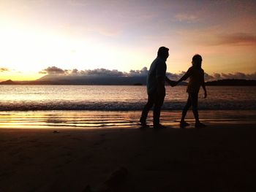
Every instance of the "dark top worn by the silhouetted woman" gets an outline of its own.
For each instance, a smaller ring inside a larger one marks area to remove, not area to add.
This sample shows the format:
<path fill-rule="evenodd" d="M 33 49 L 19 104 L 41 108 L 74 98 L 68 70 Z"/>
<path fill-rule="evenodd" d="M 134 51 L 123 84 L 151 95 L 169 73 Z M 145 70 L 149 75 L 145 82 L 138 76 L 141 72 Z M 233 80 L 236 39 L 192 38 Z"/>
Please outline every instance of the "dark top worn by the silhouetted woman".
<path fill-rule="evenodd" d="M 200 86 L 203 85 L 204 82 L 204 71 L 203 69 L 197 69 L 195 67 L 190 67 L 186 73 L 187 77 L 189 77 L 189 84 L 187 85 L 188 93 L 198 93 L 200 90 Z"/>

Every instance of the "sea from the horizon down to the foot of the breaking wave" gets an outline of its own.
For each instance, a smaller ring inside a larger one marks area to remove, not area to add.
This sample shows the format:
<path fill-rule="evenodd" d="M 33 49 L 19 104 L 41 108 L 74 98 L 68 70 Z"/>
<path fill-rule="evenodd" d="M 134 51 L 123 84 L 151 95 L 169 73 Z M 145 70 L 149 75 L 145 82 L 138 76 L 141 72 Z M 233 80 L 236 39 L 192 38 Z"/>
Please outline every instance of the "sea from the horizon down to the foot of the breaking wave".
<path fill-rule="evenodd" d="M 199 93 L 199 110 L 256 110 L 256 87 L 208 86 Z M 0 111 L 135 111 L 146 104 L 146 86 L 0 85 Z M 166 86 L 162 110 L 182 110 L 186 86 Z"/>

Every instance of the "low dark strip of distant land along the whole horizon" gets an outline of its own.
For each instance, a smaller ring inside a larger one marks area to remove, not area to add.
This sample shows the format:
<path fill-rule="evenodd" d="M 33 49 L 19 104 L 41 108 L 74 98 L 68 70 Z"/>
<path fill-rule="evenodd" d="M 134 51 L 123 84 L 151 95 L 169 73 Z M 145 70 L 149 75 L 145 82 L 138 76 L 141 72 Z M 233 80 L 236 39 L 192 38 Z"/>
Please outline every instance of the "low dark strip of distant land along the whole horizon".
<path fill-rule="evenodd" d="M 31 81 L 12 81 L 0 82 L 0 85 L 146 85 L 145 77 L 108 77 L 92 78 L 90 80 L 31 80 Z M 180 85 L 187 85 L 181 82 Z M 206 82 L 208 86 L 256 86 L 256 80 L 215 80 Z"/>

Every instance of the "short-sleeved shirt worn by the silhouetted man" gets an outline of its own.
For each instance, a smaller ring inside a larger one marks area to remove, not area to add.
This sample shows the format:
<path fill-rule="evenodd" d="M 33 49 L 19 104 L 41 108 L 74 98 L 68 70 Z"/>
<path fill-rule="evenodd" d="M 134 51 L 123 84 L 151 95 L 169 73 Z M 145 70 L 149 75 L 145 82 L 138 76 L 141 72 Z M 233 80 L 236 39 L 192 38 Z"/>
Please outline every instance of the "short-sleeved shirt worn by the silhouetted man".
<path fill-rule="evenodd" d="M 157 79 L 161 78 L 165 81 L 166 64 L 165 60 L 157 57 L 151 64 L 147 77 L 147 92 L 148 94 L 157 92 Z M 165 82 L 163 82 L 165 83 Z"/>

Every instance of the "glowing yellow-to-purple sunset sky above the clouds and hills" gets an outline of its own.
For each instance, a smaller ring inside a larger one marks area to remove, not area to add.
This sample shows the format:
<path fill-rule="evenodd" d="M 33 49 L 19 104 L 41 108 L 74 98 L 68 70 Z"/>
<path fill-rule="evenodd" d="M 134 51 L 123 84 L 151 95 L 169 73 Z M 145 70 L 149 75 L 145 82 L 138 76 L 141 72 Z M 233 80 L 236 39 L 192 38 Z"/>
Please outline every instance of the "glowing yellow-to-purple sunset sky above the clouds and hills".
<path fill-rule="evenodd" d="M 255 10 L 246 0 L 0 0 L 0 80 L 149 69 L 161 46 L 172 74 L 198 53 L 212 77 L 255 77 Z"/>

